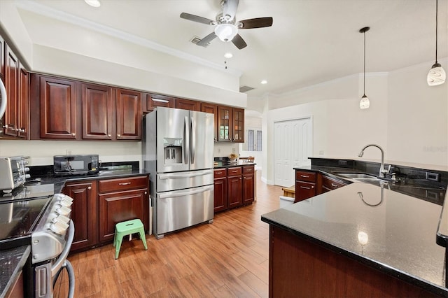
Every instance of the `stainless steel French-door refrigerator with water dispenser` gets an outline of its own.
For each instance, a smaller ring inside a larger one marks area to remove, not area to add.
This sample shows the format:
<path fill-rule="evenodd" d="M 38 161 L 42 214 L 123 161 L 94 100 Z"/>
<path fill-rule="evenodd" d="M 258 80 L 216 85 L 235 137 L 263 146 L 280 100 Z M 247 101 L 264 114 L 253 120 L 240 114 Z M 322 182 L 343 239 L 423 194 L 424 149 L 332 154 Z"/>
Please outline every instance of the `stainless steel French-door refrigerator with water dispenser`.
<path fill-rule="evenodd" d="M 157 107 L 144 127 L 155 237 L 213 222 L 214 115 Z"/>

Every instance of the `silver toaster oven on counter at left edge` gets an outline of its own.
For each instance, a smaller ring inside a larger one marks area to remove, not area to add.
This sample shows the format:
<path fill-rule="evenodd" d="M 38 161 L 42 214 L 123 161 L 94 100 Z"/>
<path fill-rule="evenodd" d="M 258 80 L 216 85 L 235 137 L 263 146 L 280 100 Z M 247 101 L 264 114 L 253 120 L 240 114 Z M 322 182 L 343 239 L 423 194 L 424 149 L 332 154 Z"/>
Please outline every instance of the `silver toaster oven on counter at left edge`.
<path fill-rule="evenodd" d="M 0 190 L 11 192 L 25 183 L 29 178 L 27 159 L 25 156 L 0 157 Z"/>

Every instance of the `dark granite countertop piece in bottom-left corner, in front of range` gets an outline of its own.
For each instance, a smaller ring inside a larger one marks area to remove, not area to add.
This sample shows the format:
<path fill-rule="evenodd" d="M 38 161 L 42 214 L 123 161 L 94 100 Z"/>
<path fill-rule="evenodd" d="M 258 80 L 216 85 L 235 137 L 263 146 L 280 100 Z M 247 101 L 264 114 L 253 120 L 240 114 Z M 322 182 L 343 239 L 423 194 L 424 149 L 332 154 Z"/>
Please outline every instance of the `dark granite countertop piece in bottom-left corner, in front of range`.
<path fill-rule="evenodd" d="M 0 251 L 0 297 L 7 297 L 10 294 L 11 287 L 19 277 L 30 253 L 31 246 Z"/>

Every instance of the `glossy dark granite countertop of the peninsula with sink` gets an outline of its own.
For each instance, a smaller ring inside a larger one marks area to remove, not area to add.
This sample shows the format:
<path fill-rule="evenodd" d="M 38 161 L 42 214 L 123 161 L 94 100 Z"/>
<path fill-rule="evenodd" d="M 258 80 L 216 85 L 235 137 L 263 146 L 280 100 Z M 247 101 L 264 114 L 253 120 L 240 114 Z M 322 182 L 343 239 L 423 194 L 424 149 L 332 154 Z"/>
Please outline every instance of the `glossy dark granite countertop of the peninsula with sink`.
<path fill-rule="evenodd" d="M 329 169 L 335 168 L 297 169 L 332 175 Z M 354 182 L 264 214 L 262 221 L 446 296 L 445 248 L 437 245 L 435 236 L 442 204 L 393 187 Z M 358 241 L 360 235 L 367 235 L 365 245 Z"/>

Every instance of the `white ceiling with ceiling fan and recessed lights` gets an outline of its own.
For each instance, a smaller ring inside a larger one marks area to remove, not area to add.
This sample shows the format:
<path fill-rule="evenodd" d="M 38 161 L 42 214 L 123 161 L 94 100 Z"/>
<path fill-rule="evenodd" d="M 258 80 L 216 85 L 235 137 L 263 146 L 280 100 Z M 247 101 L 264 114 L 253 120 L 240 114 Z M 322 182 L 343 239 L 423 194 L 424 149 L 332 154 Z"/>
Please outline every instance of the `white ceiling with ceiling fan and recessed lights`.
<path fill-rule="evenodd" d="M 3 0 L 1 0 L 3 1 Z M 272 16 L 272 27 L 240 30 L 248 46 L 238 50 L 216 38 L 204 48 L 190 42 L 214 27 L 181 19 L 182 12 L 214 20 L 220 0 L 100 0 L 92 8 L 83 0 L 34 0 L 40 13 L 57 11 L 111 27 L 148 41 L 241 72 L 240 86 L 254 90 L 248 97 L 280 94 L 300 87 L 366 71 L 392 71 L 435 60 L 435 0 L 240 0 L 237 20 Z M 23 6 L 23 4 L 22 4 Z M 448 0 L 439 0 L 437 56 L 448 56 Z M 22 17 L 26 17 L 26 14 Z M 32 20 L 24 23 L 27 29 Z M 37 24 L 36 24 L 37 25 Z M 31 30 L 29 30 L 31 31 Z M 31 41 L 33 36 L 30 34 Z M 448 65 L 444 65 L 448 70 Z M 426 73 L 422 74 L 423 80 Z M 261 85 L 260 80 L 268 81 Z"/>

